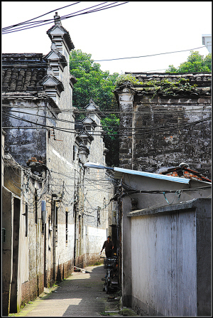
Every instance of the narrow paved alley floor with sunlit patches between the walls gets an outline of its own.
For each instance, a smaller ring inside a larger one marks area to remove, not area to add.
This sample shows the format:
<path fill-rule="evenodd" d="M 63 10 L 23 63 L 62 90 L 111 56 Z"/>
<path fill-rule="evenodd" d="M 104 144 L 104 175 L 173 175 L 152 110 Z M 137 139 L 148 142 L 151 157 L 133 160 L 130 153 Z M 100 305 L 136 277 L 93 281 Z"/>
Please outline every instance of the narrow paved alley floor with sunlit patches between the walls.
<path fill-rule="evenodd" d="M 85 267 L 86 272 L 73 272 L 58 287 L 45 288 L 40 297 L 27 304 L 16 317 L 96 317 L 124 315 L 119 296 L 103 292 L 103 265 Z M 110 300 L 114 298 L 114 300 Z M 129 309 L 126 309 L 129 310 Z M 130 311 L 129 311 L 130 312 Z M 131 312 L 130 315 L 134 313 Z M 127 316 L 127 314 L 125 314 Z"/>

